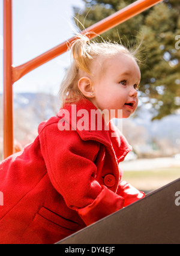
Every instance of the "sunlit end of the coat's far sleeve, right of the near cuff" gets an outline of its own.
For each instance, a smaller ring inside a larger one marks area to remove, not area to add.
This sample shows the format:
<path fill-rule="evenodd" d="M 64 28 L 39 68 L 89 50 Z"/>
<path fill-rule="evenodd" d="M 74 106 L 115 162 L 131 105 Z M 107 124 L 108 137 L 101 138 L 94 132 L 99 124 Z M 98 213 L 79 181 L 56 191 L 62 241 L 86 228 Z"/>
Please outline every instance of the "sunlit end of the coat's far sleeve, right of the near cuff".
<path fill-rule="evenodd" d="M 125 199 L 124 207 L 145 197 L 144 192 L 137 190 L 125 180 L 119 183 L 117 194 Z"/>

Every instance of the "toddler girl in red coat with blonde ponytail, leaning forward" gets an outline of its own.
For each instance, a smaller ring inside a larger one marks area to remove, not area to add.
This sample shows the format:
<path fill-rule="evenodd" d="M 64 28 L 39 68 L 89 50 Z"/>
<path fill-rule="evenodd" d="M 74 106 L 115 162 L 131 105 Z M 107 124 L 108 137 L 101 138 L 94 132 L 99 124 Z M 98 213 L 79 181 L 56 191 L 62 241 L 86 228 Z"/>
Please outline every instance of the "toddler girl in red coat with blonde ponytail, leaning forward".
<path fill-rule="evenodd" d="M 137 108 L 140 69 L 125 47 L 79 35 L 62 108 L 0 165 L 0 243 L 56 243 L 144 197 L 122 181 L 131 146 L 112 118 Z"/>

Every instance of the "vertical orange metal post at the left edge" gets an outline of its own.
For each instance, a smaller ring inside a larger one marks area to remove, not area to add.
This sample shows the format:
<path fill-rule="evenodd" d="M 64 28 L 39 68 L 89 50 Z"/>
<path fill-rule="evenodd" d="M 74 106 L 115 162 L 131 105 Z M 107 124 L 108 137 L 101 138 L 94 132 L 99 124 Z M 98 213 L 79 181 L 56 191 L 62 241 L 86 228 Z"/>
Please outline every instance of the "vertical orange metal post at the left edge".
<path fill-rule="evenodd" d="M 4 0 L 4 158 L 13 154 L 12 2 Z"/>

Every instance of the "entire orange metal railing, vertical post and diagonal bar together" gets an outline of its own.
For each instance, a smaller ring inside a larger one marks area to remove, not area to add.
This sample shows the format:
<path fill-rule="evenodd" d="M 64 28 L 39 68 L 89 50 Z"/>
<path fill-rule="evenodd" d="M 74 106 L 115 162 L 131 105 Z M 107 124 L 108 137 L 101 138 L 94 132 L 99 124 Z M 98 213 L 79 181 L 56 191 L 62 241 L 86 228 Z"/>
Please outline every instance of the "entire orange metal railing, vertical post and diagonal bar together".
<path fill-rule="evenodd" d="M 89 32 L 89 38 L 97 35 L 125 22 L 131 17 L 151 8 L 163 0 L 138 0 L 128 5 L 122 10 L 112 14 L 106 19 L 101 20 L 95 25 L 82 31 L 82 34 Z M 13 84 L 22 76 L 50 61 L 53 58 L 67 52 L 67 41 L 53 49 L 41 54 L 37 58 L 26 62 L 18 67 L 12 66 L 12 0 L 4 0 L 4 158 L 13 154 Z M 92 33 L 91 33 L 92 32 Z M 76 40 L 72 37 L 68 42 Z"/>

